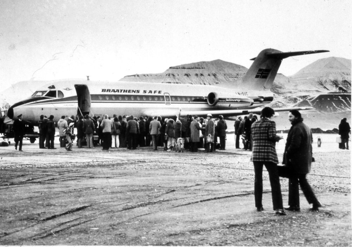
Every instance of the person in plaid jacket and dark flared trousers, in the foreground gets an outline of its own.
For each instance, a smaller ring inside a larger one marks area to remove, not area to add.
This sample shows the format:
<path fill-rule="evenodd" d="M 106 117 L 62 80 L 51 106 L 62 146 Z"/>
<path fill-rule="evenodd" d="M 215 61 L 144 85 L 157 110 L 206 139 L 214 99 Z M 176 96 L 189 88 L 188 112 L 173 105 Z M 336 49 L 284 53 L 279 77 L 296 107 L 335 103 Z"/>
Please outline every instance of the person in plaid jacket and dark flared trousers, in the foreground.
<path fill-rule="evenodd" d="M 281 195 L 280 179 L 277 164 L 279 163 L 275 144 L 282 137 L 276 135 L 276 123 L 271 120 L 275 111 L 270 107 L 262 109 L 260 120 L 254 122 L 251 127 L 253 150 L 252 161 L 254 165 L 254 199 L 257 211 L 264 211 L 263 197 L 263 165 L 269 173 L 272 204 L 275 213 L 286 215 Z"/>

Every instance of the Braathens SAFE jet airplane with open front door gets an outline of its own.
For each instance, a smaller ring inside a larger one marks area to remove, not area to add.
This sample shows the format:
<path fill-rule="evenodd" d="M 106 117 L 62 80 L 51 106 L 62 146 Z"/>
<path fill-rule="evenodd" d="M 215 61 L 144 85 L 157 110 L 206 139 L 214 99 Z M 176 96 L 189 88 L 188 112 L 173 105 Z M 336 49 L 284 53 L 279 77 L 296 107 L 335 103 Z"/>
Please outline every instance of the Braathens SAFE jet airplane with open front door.
<path fill-rule="evenodd" d="M 270 91 L 282 59 L 290 56 L 328 52 L 327 50 L 282 52 L 264 49 L 252 63 L 237 88 L 216 86 L 165 84 L 143 82 L 100 82 L 88 80 L 57 80 L 35 91 L 28 99 L 13 104 L 7 116 L 23 119 L 37 125 L 41 114 L 61 116 L 77 115 L 176 115 L 213 116 L 227 119 L 249 113 L 260 114 L 261 107 L 274 99 Z M 312 107 L 274 108 L 275 112 Z"/>

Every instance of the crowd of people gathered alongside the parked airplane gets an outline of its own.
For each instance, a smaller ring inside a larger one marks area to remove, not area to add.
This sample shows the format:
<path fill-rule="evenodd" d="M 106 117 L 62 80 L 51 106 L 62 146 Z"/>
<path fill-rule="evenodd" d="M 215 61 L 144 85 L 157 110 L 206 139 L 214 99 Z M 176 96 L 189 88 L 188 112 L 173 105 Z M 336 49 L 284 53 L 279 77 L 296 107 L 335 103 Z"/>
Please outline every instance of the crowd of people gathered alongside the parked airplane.
<path fill-rule="evenodd" d="M 24 128 L 21 126 L 23 116 L 18 116 L 14 122 L 15 135 L 18 136 L 19 150 L 22 151 L 22 139 Z M 214 152 L 217 148 L 225 150 L 227 124 L 223 116 L 215 122 L 212 114 L 207 118 L 187 115 L 185 118 L 180 115 L 174 119 L 155 116 L 117 116 L 112 118 L 108 115 L 100 116 L 61 116 L 54 122 L 54 115 L 49 118 L 40 115 L 38 121 L 39 148 L 56 149 L 54 146 L 55 127 L 59 130 L 60 147 L 72 151 L 72 143 L 75 138 L 78 148 L 95 148 L 101 146 L 103 150 L 110 148 L 127 148 L 134 150 L 139 147 L 153 147 L 158 150 L 162 147 L 164 151 L 175 150 L 176 140 L 184 140 L 184 149 L 191 152 L 198 152 L 198 148 L 204 148 L 205 152 Z M 76 130 L 76 133 L 75 133 Z M 94 136 L 98 140 L 94 141 Z M 219 141 L 218 141 L 219 139 Z M 15 148 L 17 142 L 15 140 Z"/>

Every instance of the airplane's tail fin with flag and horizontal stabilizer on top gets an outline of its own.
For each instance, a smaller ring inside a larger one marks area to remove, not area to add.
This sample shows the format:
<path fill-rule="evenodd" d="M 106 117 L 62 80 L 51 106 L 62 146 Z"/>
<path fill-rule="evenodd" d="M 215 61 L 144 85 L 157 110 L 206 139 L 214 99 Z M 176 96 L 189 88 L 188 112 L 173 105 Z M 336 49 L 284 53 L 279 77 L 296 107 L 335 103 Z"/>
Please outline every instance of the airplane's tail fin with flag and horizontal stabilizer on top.
<path fill-rule="evenodd" d="M 326 50 L 282 52 L 274 49 L 265 49 L 257 57 L 252 58 L 253 64 L 242 78 L 242 85 L 251 90 L 270 90 L 277 71 L 284 58 L 298 55 L 307 55 Z"/>

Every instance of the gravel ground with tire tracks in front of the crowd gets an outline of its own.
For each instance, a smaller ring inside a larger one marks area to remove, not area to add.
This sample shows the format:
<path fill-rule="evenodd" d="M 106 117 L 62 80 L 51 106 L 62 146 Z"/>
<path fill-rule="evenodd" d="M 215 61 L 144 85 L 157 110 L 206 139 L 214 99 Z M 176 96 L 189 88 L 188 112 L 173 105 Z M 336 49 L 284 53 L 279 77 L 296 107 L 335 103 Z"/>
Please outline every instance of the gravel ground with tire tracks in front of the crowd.
<path fill-rule="evenodd" d="M 231 145 L 226 151 L 196 154 L 150 148 L 109 152 L 75 148 L 70 153 L 36 148 L 26 145 L 22 153 L 13 147 L 0 149 L 0 199 L 8 201 L 8 206 L 0 207 L 1 245 L 352 245 L 351 157 L 345 150 L 314 154 L 308 179 L 324 205 L 319 212 L 309 213 L 301 194 L 301 212 L 275 217 L 267 173 L 263 172 L 263 200 L 268 211 L 258 213 L 253 208 L 250 152 Z M 281 151 L 278 156 L 281 160 Z M 287 179 L 281 179 L 281 186 L 287 202 Z M 23 192 L 14 194 L 15 188 Z M 55 201 L 47 205 L 36 201 L 32 194 L 38 191 Z M 109 204 L 116 195 L 118 203 Z M 84 203 L 77 204 L 75 197 L 84 198 Z M 212 211 L 207 216 L 212 218 L 205 218 L 203 211 Z M 86 215 L 100 215 L 99 221 L 83 221 Z M 63 217 L 68 217 L 66 223 L 59 221 Z M 41 230 L 43 219 L 49 224 L 46 230 Z M 67 223 L 76 221 L 80 224 Z"/>

